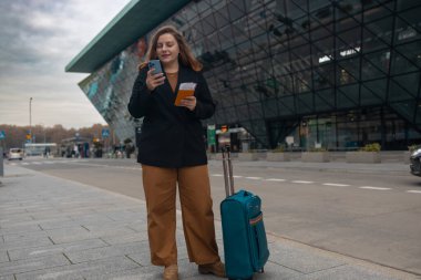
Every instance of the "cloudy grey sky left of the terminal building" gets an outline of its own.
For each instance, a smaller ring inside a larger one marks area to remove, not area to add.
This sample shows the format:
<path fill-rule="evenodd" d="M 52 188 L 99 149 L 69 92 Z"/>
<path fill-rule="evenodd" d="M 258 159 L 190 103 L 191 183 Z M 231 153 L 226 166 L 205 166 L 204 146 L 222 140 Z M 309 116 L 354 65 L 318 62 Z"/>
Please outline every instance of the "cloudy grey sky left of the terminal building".
<path fill-rule="evenodd" d="M 0 0 L 0 125 L 105 124 L 65 65 L 130 0 Z"/>

